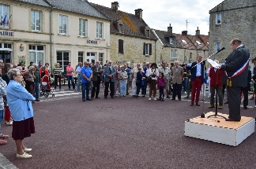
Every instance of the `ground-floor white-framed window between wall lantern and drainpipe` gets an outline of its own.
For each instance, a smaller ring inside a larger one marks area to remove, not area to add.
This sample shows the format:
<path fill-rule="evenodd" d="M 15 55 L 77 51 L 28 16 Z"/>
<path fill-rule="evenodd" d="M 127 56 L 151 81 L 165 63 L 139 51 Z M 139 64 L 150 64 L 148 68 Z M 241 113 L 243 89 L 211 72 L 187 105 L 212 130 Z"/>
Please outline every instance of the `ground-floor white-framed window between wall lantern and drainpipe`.
<path fill-rule="evenodd" d="M 40 61 L 44 63 L 44 46 L 30 45 L 29 61 L 33 61 L 36 64 Z"/>

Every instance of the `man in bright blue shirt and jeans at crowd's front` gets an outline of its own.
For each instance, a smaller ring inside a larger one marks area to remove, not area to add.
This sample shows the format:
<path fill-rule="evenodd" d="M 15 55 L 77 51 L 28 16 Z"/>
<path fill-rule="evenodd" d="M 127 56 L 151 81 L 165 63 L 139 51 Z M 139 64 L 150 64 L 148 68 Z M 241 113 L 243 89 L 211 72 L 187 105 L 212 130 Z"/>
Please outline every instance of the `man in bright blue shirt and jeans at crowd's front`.
<path fill-rule="evenodd" d="M 82 82 L 82 99 L 85 101 L 85 90 L 86 90 L 86 100 L 92 101 L 89 97 L 90 84 L 92 79 L 92 69 L 88 67 L 88 61 L 85 61 L 85 66 L 81 69 L 81 82 Z"/>

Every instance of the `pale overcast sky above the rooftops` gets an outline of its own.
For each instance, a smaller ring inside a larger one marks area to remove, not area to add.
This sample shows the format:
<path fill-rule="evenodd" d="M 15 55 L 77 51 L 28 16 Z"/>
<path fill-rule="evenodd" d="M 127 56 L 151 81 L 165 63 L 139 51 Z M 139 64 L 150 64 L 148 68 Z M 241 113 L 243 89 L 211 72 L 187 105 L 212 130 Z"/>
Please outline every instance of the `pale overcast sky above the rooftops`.
<path fill-rule="evenodd" d="M 116 0 L 88 0 L 101 6 L 111 8 L 111 2 Z M 161 31 L 167 31 L 171 24 L 173 33 L 181 34 L 187 31 L 194 35 L 199 28 L 201 35 L 209 32 L 209 10 L 224 0 L 119 0 L 119 10 L 126 13 L 135 13 L 135 9 L 143 9 L 142 18 L 149 25 Z"/>

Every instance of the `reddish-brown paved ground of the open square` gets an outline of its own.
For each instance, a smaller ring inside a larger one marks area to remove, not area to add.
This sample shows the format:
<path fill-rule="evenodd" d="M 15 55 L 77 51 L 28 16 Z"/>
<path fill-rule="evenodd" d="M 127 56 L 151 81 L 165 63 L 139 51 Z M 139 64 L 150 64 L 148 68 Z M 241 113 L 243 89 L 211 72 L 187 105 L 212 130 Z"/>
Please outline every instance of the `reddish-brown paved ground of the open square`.
<path fill-rule="evenodd" d="M 190 106 L 189 99 L 104 99 L 103 88 L 100 99 L 83 102 L 81 93 L 63 89 L 67 95 L 41 97 L 33 104 L 36 134 L 24 139 L 33 149 L 32 159 L 17 160 L 9 138 L 0 149 L 0 168 L 256 167 L 255 134 L 237 147 L 184 136 L 184 121 L 200 116 L 202 102 L 198 107 Z M 247 110 L 241 106 L 242 116 L 254 117 L 253 105 L 250 101 Z M 214 111 L 208 106 L 205 97 L 204 112 Z M 228 105 L 220 112 L 228 113 Z M 4 134 L 11 135 L 11 130 L 2 124 Z"/>

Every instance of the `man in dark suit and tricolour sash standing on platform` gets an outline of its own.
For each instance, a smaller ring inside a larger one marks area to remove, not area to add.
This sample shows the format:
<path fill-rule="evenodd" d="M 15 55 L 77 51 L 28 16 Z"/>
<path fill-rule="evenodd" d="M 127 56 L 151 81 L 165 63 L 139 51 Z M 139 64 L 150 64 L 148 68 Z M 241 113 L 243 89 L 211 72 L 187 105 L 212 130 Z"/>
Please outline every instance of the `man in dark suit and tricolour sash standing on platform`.
<path fill-rule="evenodd" d="M 240 93 L 241 87 L 247 86 L 250 53 L 239 39 L 232 39 L 230 46 L 233 51 L 228 55 L 225 64 L 221 65 L 224 70 L 222 82 L 227 84 L 228 94 L 229 116 L 226 121 L 240 121 Z"/>

